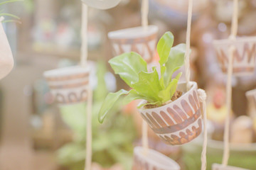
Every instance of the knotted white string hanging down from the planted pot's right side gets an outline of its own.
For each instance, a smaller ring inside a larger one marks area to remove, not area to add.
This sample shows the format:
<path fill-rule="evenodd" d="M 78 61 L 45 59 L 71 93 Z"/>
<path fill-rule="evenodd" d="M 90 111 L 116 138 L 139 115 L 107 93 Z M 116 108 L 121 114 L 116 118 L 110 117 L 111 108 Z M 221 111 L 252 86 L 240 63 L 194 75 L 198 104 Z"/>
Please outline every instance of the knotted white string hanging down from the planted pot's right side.
<path fill-rule="evenodd" d="M 206 150 L 207 150 L 207 115 L 206 115 L 206 91 L 198 89 L 198 98 L 203 103 L 203 149 L 201 153 L 201 170 L 206 170 Z"/>

